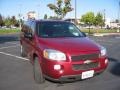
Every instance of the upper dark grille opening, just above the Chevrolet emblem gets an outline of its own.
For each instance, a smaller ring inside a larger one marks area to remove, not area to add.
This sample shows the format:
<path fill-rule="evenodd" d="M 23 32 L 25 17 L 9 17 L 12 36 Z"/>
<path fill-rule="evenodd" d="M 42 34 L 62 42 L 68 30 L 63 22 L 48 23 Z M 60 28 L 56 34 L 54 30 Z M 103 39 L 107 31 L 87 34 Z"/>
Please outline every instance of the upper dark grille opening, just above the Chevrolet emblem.
<path fill-rule="evenodd" d="M 86 55 L 79 55 L 79 56 L 72 56 L 72 61 L 79 61 L 79 60 L 92 60 L 99 58 L 99 54 L 86 54 Z"/>

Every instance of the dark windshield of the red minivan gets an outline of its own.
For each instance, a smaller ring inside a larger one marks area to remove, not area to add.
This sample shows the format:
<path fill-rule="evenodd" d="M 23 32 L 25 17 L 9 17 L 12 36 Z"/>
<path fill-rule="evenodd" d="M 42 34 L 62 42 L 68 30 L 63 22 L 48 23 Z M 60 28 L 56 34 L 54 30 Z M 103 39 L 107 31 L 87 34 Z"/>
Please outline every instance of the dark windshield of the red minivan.
<path fill-rule="evenodd" d="M 72 23 L 42 22 L 38 24 L 38 35 L 43 38 L 83 37 L 84 35 Z"/>

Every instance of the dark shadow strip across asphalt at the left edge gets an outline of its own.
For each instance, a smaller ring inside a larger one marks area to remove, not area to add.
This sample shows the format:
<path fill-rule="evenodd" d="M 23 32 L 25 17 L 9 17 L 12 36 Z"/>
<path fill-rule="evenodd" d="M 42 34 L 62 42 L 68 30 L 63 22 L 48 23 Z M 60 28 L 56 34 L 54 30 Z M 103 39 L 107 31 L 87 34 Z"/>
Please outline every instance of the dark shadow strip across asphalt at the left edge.
<path fill-rule="evenodd" d="M 18 40 L 19 40 L 19 34 L 0 35 L 0 44 L 5 43 L 5 42 L 18 41 Z"/>

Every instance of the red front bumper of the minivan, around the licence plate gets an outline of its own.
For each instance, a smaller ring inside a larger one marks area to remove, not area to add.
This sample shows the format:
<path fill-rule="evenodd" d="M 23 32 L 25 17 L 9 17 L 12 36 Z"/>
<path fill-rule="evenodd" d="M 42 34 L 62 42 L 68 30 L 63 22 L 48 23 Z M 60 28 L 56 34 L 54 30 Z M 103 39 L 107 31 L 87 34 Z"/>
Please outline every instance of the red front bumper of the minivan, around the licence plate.
<path fill-rule="evenodd" d="M 44 76 L 52 81 L 76 81 L 81 79 L 82 72 L 94 70 L 94 75 L 98 73 L 103 72 L 107 65 L 108 62 L 105 63 L 105 60 L 108 61 L 106 57 L 104 58 L 99 58 L 96 60 L 92 60 L 92 62 L 99 62 L 98 67 L 94 68 L 87 68 L 85 70 L 81 70 L 77 68 L 73 68 L 73 65 L 84 65 L 83 62 L 53 62 L 51 60 L 44 60 L 44 63 L 42 63 L 42 70 Z M 60 70 L 55 70 L 54 65 L 61 65 Z M 92 65 L 90 65 L 91 67 Z M 77 70 L 75 70 L 77 69 Z"/>

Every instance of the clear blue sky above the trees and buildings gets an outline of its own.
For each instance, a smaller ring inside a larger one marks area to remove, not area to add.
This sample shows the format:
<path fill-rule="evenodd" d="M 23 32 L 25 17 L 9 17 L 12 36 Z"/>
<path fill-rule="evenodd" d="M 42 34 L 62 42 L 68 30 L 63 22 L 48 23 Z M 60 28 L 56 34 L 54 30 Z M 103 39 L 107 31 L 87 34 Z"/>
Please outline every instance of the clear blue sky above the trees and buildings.
<path fill-rule="evenodd" d="M 74 8 L 75 0 L 71 0 L 72 7 Z M 111 20 L 117 19 L 119 16 L 119 0 L 76 0 L 77 1 L 77 18 L 80 18 L 87 12 L 104 13 L 105 17 Z M 35 11 L 39 14 L 40 19 L 45 14 L 54 16 L 47 5 L 55 3 L 56 0 L 0 0 L 0 14 L 4 17 L 16 16 L 21 13 L 22 17 L 27 17 L 29 11 Z M 39 12 L 39 13 L 38 13 Z M 69 12 L 65 18 L 74 18 L 75 11 Z"/>

